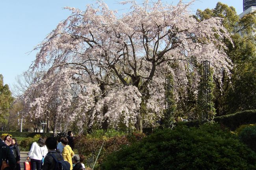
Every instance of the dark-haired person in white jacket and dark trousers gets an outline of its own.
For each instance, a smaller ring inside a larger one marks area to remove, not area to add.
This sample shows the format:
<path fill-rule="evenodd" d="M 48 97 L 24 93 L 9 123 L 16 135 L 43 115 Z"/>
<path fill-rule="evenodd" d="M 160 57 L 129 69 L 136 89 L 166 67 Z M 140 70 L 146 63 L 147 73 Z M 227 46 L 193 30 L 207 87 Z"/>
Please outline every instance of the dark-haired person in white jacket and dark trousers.
<path fill-rule="evenodd" d="M 41 170 L 42 159 L 45 158 L 48 153 L 48 149 L 45 146 L 45 140 L 39 138 L 37 142 L 34 142 L 31 146 L 31 149 L 28 153 L 27 160 L 31 160 L 31 170 Z"/>

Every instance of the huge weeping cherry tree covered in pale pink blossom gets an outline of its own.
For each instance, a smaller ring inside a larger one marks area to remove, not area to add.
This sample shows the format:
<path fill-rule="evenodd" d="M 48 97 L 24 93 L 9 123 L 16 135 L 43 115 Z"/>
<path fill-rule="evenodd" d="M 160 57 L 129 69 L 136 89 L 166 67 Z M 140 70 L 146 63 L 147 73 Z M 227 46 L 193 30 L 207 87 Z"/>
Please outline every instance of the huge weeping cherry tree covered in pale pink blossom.
<path fill-rule="evenodd" d="M 220 41 L 229 35 L 218 18 L 198 22 L 187 11 L 191 3 L 182 1 L 131 3 L 130 12 L 118 17 L 103 3 L 85 12 L 67 7 L 72 15 L 36 48 L 33 68 L 47 72 L 26 91 L 31 115 L 43 117 L 57 95 L 56 112 L 67 124 L 78 118 L 80 127 L 124 123 L 142 131 L 143 122 L 163 117 L 167 75 L 178 102 L 187 96 L 187 72 L 193 72 L 190 86 L 198 86 L 202 60 L 210 60 L 216 78 L 223 68 L 229 74 Z M 38 96 L 30 98 L 32 91 Z M 149 112 L 141 112 L 142 104 Z"/>

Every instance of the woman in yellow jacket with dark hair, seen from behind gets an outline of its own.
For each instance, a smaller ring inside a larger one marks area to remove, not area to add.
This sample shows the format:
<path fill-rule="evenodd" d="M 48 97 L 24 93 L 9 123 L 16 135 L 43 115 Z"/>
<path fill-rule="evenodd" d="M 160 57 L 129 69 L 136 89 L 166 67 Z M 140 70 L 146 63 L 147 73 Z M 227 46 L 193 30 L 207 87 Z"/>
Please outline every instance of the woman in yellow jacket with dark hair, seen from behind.
<path fill-rule="evenodd" d="M 63 137 L 61 139 L 61 143 L 64 146 L 61 155 L 63 156 L 64 161 L 68 161 L 70 163 L 70 170 L 72 170 L 73 169 L 72 156 L 74 155 L 74 152 L 68 145 L 68 142 L 69 140 L 67 139 L 67 137 Z"/>

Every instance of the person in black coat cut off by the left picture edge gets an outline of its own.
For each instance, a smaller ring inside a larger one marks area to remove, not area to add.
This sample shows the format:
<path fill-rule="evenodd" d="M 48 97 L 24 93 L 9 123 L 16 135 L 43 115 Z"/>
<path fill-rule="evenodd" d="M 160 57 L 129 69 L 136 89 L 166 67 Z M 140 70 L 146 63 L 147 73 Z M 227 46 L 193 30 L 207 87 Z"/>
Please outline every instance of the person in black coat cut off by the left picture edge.
<path fill-rule="evenodd" d="M 9 167 L 5 168 L 4 170 L 14 170 L 16 166 L 16 160 L 13 156 L 13 152 L 11 148 L 4 144 L 4 142 L 0 141 L 0 167 L 2 167 L 2 159 L 6 158 L 9 161 Z"/>

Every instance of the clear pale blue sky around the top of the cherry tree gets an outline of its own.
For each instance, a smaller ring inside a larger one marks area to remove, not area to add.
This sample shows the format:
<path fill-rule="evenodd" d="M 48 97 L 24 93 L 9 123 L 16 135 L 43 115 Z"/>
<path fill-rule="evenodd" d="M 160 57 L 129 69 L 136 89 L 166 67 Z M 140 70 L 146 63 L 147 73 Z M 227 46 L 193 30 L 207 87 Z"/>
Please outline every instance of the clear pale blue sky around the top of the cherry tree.
<path fill-rule="evenodd" d="M 110 9 L 120 10 L 121 13 L 127 8 L 118 4 L 125 0 L 103 1 Z M 173 5 L 178 1 L 162 0 Z M 36 52 L 30 53 L 30 51 L 43 41 L 61 20 L 70 15 L 70 11 L 63 7 L 76 7 L 84 11 L 86 4 L 93 2 L 92 0 L 0 0 L 0 74 L 4 76 L 4 84 L 13 87 L 16 83 L 15 77 L 26 71 L 35 60 Z M 243 12 L 243 0 L 197 0 L 191 6 L 191 10 L 212 9 L 217 2 L 235 7 L 237 14 Z"/>

